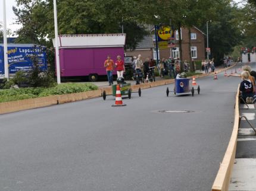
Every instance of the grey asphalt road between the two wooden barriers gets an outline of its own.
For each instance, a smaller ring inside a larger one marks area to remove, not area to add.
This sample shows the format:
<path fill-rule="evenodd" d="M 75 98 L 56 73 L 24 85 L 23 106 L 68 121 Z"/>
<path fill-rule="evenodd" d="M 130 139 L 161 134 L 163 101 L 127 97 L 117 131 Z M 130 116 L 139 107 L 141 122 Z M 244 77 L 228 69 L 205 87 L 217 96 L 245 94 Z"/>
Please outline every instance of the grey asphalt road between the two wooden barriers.
<path fill-rule="evenodd" d="M 0 115 L 0 190 L 210 190 L 240 81 L 218 78 L 196 79 L 195 97 L 161 86 L 126 107 L 107 97 Z"/>

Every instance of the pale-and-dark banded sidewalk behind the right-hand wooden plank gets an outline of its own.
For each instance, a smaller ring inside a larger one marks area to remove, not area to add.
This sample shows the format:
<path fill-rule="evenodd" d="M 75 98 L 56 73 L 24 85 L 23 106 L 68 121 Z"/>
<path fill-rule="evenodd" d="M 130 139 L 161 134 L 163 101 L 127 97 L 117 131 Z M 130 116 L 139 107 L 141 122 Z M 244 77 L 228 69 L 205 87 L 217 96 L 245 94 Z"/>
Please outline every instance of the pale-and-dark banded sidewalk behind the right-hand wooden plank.
<path fill-rule="evenodd" d="M 239 105 L 240 116 L 245 116 L 248 122 L 256 128 L 254 104 Z M 256 190 L 256 133 L 245 119 L 241 120 L 238 131 L 235 164 L 230 179 L 229 190 Z"/>

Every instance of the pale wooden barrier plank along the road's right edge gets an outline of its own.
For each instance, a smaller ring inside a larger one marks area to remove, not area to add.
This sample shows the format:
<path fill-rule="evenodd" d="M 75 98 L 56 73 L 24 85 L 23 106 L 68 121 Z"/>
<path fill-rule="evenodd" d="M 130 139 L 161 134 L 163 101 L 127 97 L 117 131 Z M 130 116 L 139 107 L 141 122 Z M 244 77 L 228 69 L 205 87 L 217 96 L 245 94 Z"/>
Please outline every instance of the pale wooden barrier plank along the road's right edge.
<path fill-rule="evenodd" d="M 235 122 L 233 126 L 232 135 L 227 146 L 226 153 L 220 168 L 218 170 L 216 179 L 214 180 L 212 191 L 228 191 L 230 176 L 233 170 L 233 164 L 235 161 L 236 154 L 236 141 L 238 138 L 238 128 L 239 128 L 239 87 L 236 93 L 236 104 L 235 104 Z"/>

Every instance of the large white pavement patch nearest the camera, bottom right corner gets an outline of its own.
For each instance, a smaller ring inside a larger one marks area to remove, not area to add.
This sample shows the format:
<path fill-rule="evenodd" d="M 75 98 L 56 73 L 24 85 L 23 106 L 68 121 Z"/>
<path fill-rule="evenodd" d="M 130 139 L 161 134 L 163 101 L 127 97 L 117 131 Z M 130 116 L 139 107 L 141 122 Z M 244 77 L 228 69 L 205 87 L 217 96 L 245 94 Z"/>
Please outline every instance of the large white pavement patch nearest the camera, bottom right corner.
<path fill-rule="evenodd" d="M 256 158 L 236 158 L 229 191 L 256 190 Z"/>

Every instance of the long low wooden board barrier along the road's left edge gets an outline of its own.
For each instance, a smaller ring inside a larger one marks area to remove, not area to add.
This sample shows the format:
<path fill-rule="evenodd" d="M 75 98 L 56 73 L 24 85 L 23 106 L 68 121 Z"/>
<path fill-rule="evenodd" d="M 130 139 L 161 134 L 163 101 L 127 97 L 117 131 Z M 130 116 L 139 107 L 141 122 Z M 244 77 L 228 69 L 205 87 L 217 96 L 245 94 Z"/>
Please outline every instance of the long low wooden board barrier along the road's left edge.
<path fill-rule="evenodd" d="M 235 65 L 232 65 L 229 68 L 220 69 L 219 71 L 216 71 L 216 73 L 218 74 L 220 72 L 226 71 L 230 68 L 233 68 Z M 195 77 L 202 78 L 208 75 L 213 75 L 213 74 L 201 74 L 201 75 L 196 75 Z M 146 84 L 132 85 L 132 90 L 137 91 L 139 90 L 139 88 L 146 89 L 146 88 L 152 88 L 152 87 L 173 84 L 173 83 L 174 83 L 174 79 L 165 79 L 165 80 L 155 81 L 155 82 L 146 83 Z M 0 114 L 18 112 L 21 110 L 28 110 L 28 109 L 36 109 L 39 107 L 51 106 L 54 104 L 70 103 L 73 101 L 80 101 L 80 100 L 86 100 L 89 98 L 101 97 L 103 91 L 106 91 L 107 95 L 112 94 L 112 88 L 107 87 L 107 88 L 99 88 L 99 90 L 86 91 L 82 93 L 46 96 L 46 97 L 31 98 L 26 100 L 3 102 L 3 103 L 0 103 Z"/>

